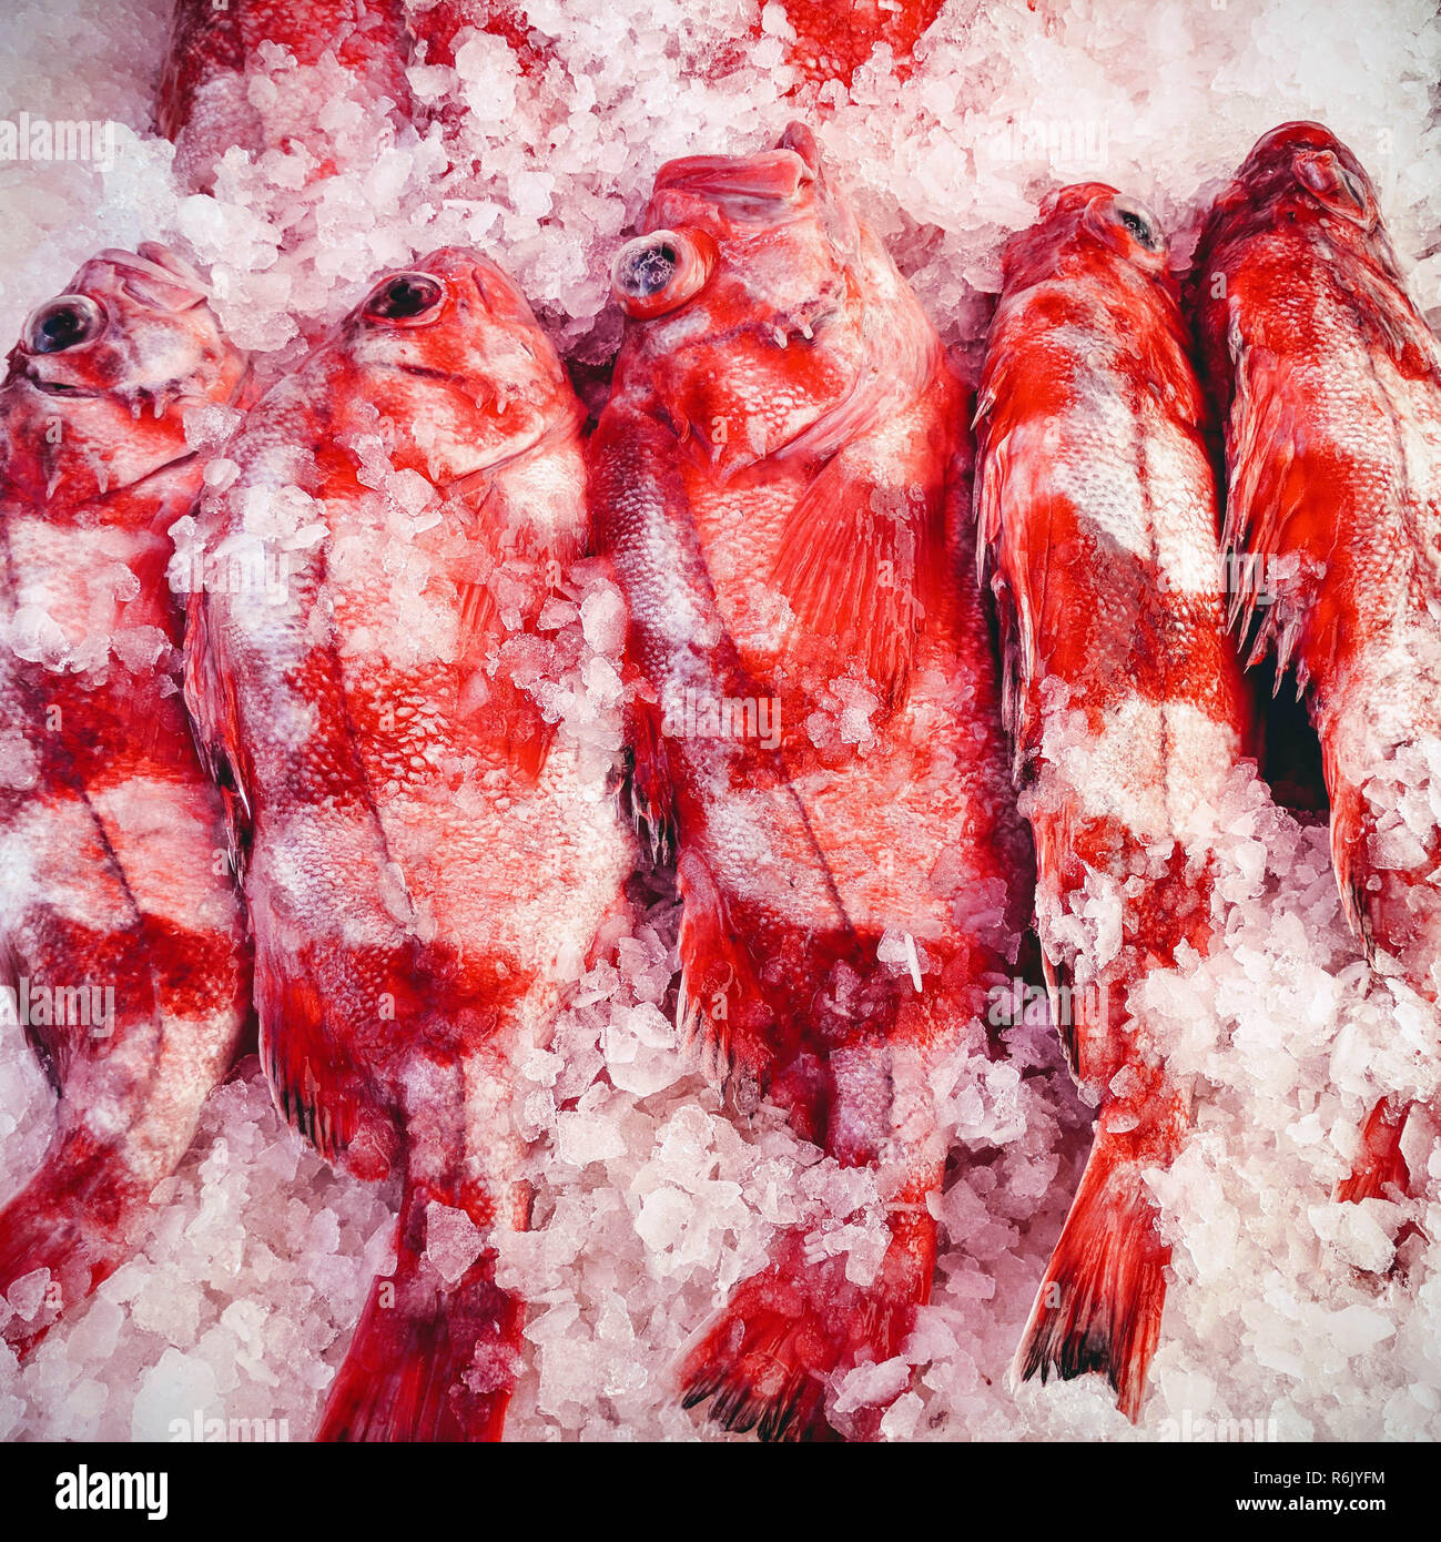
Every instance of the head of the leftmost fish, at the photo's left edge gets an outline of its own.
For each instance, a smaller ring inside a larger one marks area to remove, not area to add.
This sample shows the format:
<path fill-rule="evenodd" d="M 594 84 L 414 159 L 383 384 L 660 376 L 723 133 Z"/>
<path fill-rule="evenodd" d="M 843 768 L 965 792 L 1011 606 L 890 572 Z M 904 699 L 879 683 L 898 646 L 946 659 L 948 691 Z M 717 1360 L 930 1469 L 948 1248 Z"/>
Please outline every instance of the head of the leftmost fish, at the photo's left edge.
<path fill-rule="evenodd" d="M 245 379 L 207 293 L 183 258 L 148 241 L 100 251 L 31 311 L 0 386 L 9 481 L 57 506 L 188 458 L 185 413 L 231 401 Z"/>

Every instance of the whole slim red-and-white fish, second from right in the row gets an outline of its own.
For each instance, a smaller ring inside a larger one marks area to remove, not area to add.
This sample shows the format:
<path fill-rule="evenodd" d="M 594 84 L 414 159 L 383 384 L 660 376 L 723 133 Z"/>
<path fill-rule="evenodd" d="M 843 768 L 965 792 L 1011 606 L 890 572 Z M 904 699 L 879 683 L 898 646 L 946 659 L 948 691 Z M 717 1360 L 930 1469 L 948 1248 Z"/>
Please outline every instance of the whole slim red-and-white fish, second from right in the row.
<path fill-rule="evenodd" d="M 1174 1158 L 1188 1112 L 1127 1002 L 1184 944 L 1210 944 L 1210 840 L 1253 722 L 1227 635 L 1205 404 L 1165 264 L 1154 221 L 1113 188 L 1053 193 L 1008 245 L 977 413 L 1037 928 L 1071 1069 L 1099 1103 L 1016 1375 L 1100 1371 L 1133 1420 L 1170 1260 L 1144 1173 Z M 1097 891 L 1117 901 L 1119 936 L 1080 925 Z M 1060 984 L 1088 993 L 1087 1010 Z"/>

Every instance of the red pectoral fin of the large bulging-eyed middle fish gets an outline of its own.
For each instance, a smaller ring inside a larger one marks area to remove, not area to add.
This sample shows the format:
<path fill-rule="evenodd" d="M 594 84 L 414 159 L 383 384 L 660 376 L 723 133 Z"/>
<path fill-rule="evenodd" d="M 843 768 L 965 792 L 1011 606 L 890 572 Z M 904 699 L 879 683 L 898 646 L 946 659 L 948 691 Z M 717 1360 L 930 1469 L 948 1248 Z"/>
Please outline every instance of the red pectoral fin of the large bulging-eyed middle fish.
<path fill-rule="evenodd" d="M 915 640 L 943 603 L 945 481 L 905 481 L 843 450 L 786 520 L 774 578 L 800 628 L 834 637 L 866 669 L 889 709 L 909 686 Z"/>

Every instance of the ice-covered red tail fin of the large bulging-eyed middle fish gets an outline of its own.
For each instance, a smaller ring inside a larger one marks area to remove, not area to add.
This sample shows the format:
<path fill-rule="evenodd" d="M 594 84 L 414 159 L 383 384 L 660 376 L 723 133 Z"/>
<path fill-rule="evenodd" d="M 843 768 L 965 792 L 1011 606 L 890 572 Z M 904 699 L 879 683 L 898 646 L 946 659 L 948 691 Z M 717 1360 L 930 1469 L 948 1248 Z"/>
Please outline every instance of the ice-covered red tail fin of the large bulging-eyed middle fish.
<path fill-rule="evenodd" d="M 804 1234 L 786 1234 L 771 1264 L 744 1280 L 687 1351 L 680 1371 L 686 1408 L 709 1400 L 707 1414 L 735 1433 L 761 1440 L 834 1440 L 826 1417 L 832 1380 L 860 1365 L 900 1352 L 915 1309 L 931 1291 L 935 1227 L 915 1249 L 892 1241 L 869 1286 L 846 1278 L 843 1257 L 809 1261 Z M 911 1240 L 914 1241 L 914 1240 Z M 885 1403 L 905 1386 L 897 1385 Z M 858 1411 L 855 1436 L 874 1436 L 885 1406 Z"/>

